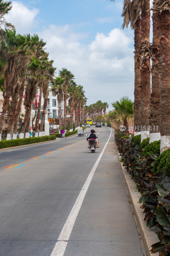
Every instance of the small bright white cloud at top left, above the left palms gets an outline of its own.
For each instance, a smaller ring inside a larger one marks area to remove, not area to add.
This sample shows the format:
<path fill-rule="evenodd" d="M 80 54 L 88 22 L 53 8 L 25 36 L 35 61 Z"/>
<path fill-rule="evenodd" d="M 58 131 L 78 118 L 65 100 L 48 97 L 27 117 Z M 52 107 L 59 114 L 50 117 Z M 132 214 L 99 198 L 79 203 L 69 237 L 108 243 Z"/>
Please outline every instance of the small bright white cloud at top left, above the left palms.
<path fill-rule="evenodd" d="M 29 33 L 35 27 L 35 17 L 39 10 L 33 8 L 28 9 L 23 3 L 18 1 L 12 2 L 12 9 L 6 15 L 7 22 L 15 26 L 17 33 Z"/>

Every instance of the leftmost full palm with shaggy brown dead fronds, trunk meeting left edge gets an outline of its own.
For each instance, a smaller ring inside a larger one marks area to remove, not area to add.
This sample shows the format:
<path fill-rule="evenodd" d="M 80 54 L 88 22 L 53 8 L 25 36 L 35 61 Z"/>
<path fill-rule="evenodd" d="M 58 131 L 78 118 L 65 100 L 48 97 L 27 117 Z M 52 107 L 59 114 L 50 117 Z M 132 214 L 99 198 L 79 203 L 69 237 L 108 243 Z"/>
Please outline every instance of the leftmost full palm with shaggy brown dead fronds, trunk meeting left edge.
<path fill-rule="evenodd" d="M 18 65 L 21 64 L 19 59 L 26 55 L 27 48 L 28 45 L 24 36 L 16 35 L 15 31 L 7 29 L 3 31 L 0 48 L 0 74 L 4 76 L 4 104 L 0 117 L 0 140 L 8 103 L 12 92 L 15 91 L 15 87 L 17 86 L 16 75 L 19 74 L 17 68 L 19 68 Z"/>

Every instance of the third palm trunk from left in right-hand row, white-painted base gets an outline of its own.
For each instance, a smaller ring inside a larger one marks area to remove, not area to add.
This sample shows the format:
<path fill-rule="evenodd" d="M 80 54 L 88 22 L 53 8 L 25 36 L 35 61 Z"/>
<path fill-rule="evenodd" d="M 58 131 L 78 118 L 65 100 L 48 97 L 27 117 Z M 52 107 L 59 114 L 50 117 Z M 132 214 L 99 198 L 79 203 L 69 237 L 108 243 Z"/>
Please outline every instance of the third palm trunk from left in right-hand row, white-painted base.
<path fill-rule="evenodd" d="M 149 143 L 160 140 L 160 93 L 159 93 L 159 28 L 158 17 L 152 15 L 153 21 L 153 43 L 152 43 L 152 93 L 150 113 L 150 140 Z M 154 129 L 158 127 L 158 129 Z"/>

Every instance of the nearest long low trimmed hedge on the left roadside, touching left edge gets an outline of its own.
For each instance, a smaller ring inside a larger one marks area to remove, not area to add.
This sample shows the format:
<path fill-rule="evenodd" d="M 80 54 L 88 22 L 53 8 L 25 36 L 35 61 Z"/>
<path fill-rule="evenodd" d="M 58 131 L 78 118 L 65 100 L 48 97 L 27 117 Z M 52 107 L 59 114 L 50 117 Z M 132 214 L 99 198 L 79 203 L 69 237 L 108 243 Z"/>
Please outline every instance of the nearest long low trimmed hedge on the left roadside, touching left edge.
<path fill-rule="evenodd" d="M 30 138 L 24 138 L 24 139 L 17 139 L 17 140 L 1 140 L 0 141 L 0 148 L 10 148 L 15 146 L 21 146 L 21 145 L 27 145 L 32 143 L 38 143 L 48 140 L 55 140 L 55 135 L 48 135 L 43 137 L 30 137 Z"/>

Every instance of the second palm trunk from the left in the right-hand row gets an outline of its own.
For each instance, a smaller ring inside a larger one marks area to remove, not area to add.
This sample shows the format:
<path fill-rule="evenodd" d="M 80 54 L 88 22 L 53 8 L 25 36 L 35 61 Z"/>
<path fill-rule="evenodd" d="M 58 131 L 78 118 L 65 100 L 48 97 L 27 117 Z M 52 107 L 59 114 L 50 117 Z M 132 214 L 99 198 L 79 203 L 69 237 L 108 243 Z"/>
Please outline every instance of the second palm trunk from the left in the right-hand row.
<path fill-rule="evenodd" d="M 150 10 L 150 0 L 146 0 L 147 10 Z M 146 48 L 146 52 L 150 47 L 150 11 L 142 10 L 141 12 L 141 47 L 140 50 Z M 144 52 L 141 52 L 144 53 Z M 150 116 L 150 100 L 151 100 L 151 72 L 150 72 L 150 56 L 142 57 L 141 54 L 141 142 L 149 137 L 149 116 Z"/>

